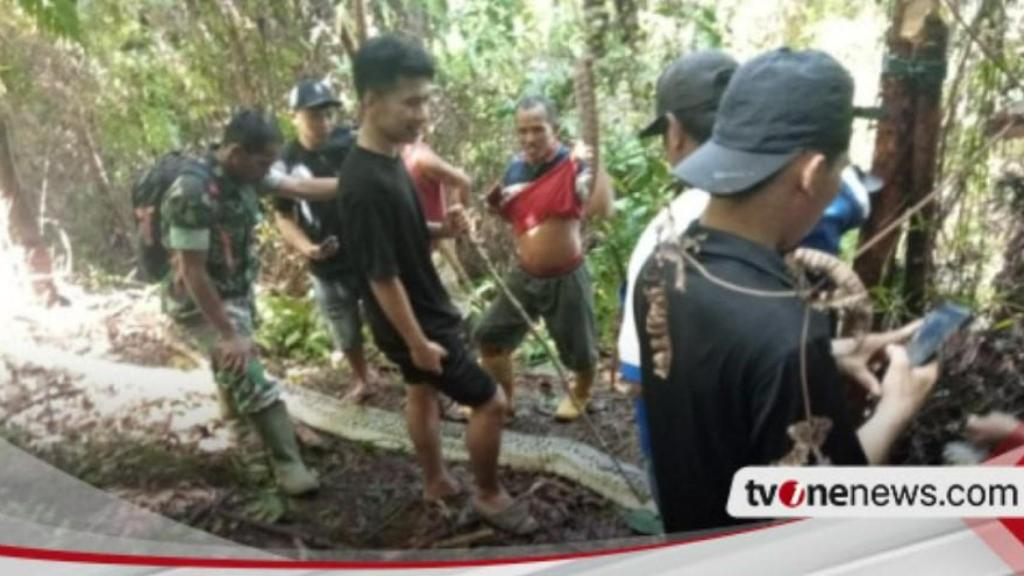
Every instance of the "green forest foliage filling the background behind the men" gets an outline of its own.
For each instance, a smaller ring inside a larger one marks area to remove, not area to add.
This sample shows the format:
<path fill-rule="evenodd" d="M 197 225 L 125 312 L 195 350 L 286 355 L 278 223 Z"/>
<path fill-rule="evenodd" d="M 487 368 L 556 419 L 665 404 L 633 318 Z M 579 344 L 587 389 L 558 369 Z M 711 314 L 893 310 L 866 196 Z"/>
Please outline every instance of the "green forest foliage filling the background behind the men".
<path fill-rule="evenodd" d="M 169 149 L 215 141 L 233 108 L 270 109 L 287 131 L 288 89 L 300 77 L 327 76 L 348 105 L 347 120 L 353 119 L 348 63 L 335 29 L 339 12 L 350 24 L 346 4 L 0 0 L 0 105 L 10 111 L 20 174 L 28 190 L 45 183 L 47 215 L 63 223 L 80 272 L 90 266 L 127 272 L 125 231 L 117 230 L 112 212 L 127 202 L 131 181 Z M 618 286 L 635 239 L 671 194 L 657 142 L 635 136 L 652 113 L 654 82 L 665 65 L 696 48 L 724 47 L 745 58 L 782 42 L 811 45 L 821 42 L 818 25 L 828 18 L 883 10 L 878 3 L 841 0 L 782 0 L 770 7 L 756 0 L 605 4 L 615 12 L 596 66 L 597 100 L 602 157 L 614 180 L 617 211 L 589 231 L 596 239 L 589 263 L 603 341 L 610 344 Z M 979 18 L 980 32 L 1021 75 L 1019 13 L 997 0 L 975 4 L 988 13 Z M 625 6 L 636 13 L 620 13 Z M 566 140 L 579 132 L 571 82 L 584 38 L 579 0 L 389 0 L 368 2 L 368 9 L 372 31 L 411 34 L 435 55 L 438 89 L 428 139 L 474 177 L 478 192 L 486 192 L 516 151 L 513 111 L 525 93 L 555 100 Z M 627 34 L 627 20 L 639 23 L 640 34 Z M 878 26 L 881 36 L 885 22 Z M 961 31 L 953 34 L 950 82 L 968 45 Z M 863 51 L 865 39 L 851 37 L 849 44 Z M 972 157 L 984 141 L 985 118 L 1008 93 L 1005 75 L 979 50 L 964 63 L 961 87 L 947 91 L 952 111 L 943 149 L 947 158 Z M 85 146 L 86 133 L 94 151 Z M 105 169 L 111 192 L 97 181 L 93 158 Z M 940 277 L 944 293 L 985 295 L 985 262 L 998 241 L 985 234 L 988 165 L 985 159 L 974 162 L 954 194 L 943 199 L 948 217 L 936 263 L 958 271 Z M 946 162 L 943 171 L 956 168 Z M 956 202 L 964 208 L 949 207 Z M 509 259 L 507 242 L 488 246 L 497 261 Z M 478 282 L 482 292 L 489 289 Z M 883 302 L 897 307 L 892 298 Z M 267 296 L 264 310 L 261 337 L 269 349 L 303 358 L 323 358 L 330 351 L 311 302 Z"/>

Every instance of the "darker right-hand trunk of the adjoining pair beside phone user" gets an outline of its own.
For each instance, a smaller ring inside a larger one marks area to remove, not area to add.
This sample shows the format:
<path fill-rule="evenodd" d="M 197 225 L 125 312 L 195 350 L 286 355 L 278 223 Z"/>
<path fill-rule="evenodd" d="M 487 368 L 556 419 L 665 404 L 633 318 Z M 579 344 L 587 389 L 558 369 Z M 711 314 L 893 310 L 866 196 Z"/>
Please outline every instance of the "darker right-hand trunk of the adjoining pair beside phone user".
<path fill-rule="evenodd" d="M 919 61 L 945 61 L 949 29 L 937 14 L 925 23 L 924 40 L 914 50 Z M 907 204 L 921 202 L 935 189 L 938 167 L 939 131 L 942 123 L 942 78 L 925 78 L 914 83 L 914 126 L 912 184 Z M 921 316 L 927 303 L 931 279 L 932 252 L 939 224 L 938 206 L 933 202 L 913 218 L 906 239 L 906 281 L 903 295 L 912 316 Z"/>

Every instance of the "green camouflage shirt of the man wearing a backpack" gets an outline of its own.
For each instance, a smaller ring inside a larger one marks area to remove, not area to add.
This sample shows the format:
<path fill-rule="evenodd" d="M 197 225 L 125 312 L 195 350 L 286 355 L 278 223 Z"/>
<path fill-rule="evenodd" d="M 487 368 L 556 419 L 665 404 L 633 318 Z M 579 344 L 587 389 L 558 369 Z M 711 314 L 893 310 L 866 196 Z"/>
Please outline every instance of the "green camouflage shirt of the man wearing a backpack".
<path fill-rule="evenodd" d="M 262 216 L 258 190 L 232 180 L 212 156 L 205 162 L 211 166 L 211 177 L 181 174 L 164 197 L 160 210 L 164 246 L 172 253 L 206 252 L 206 270 L 220 297 L 248 298 L 259 273 L 253 239 Z M 200 310 L 176 269 L 172 265 L 164 281 L 164 312 L 176 320 L 195 319 Z"/>

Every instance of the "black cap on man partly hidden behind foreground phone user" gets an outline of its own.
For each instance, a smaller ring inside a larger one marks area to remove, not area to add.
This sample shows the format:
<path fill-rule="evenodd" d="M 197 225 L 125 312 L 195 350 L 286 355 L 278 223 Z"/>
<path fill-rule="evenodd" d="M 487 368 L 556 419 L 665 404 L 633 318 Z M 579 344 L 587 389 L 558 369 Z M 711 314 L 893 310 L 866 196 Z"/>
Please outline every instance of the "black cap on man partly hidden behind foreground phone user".
<path fill-rule="evenodd" d="M 700 50 L 676 58 L 657 79 L 655 118 L 640 137 L 664 134 L 666 116 L 672 112 L 709 115 L 710 125 L 738 66 L 735 58 L 721 50 Z"/>

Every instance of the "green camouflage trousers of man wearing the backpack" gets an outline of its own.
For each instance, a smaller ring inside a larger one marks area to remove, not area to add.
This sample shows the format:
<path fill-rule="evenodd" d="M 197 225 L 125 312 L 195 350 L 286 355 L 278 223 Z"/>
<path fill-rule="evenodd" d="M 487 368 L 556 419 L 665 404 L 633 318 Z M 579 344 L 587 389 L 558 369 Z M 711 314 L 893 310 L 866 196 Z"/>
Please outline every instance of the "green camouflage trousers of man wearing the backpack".
<path fill-rule="evenodd" d="M 255 325 L 252 303 L 248 299 L 224 300 L 224 313 L 239 335 L 252 338 Z M 239 414 L 246 416 L 255 414 L 280 399 L 281 387 L 275 380 L 267 376 L 263 365 L 256 357 L 249 360 L 245 372 L 241 374 L 217 369 L 214 353 L 220 341 L 220 335 L 202 315 L 187 321 L 174 322 L 174 330 L 189 345 L 202 352 L 210 360 L 217 387 Z"/>

